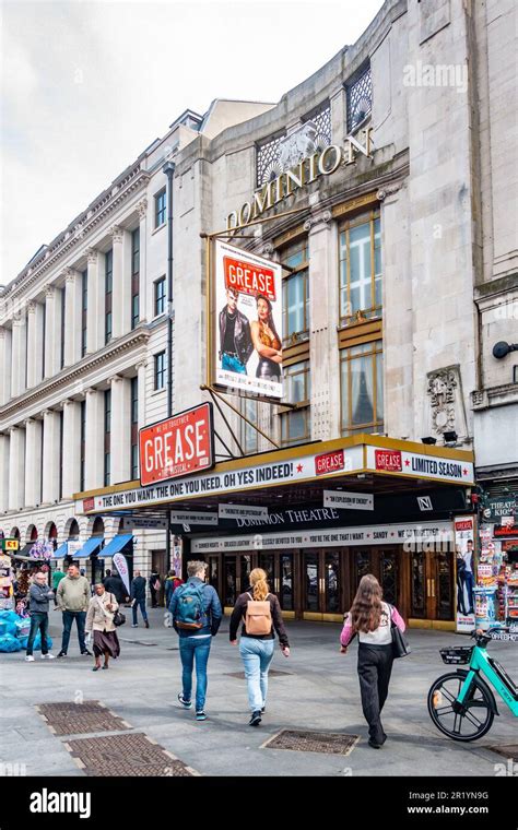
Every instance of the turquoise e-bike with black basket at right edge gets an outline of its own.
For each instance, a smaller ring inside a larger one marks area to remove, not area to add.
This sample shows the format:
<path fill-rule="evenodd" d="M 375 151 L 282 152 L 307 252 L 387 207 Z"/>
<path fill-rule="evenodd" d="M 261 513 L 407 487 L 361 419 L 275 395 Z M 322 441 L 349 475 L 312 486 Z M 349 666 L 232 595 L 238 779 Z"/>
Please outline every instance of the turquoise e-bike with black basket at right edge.
<path fill-rule="evenodd" d="M 440 649 L 444 663 L 469 663 L 467 669 L 457 668 L 438 677 L 428 691 L 429 716 L 437 728 L 454 740 L 481 738 L 498 714 L 495 696 L 484 677 L 518 716 L 518 687 L 505 668 L 487 654 L 487 643 L 496 631 L 502 632 L 502 629 L 473 631 L 475 645 Z"/>

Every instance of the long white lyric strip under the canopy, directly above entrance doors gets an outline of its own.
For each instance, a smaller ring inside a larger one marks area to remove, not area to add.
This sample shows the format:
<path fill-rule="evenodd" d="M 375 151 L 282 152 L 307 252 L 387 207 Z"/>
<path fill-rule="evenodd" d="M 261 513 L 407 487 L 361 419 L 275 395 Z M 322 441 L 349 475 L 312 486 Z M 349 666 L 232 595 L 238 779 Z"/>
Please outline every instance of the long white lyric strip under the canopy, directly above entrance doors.
<path fill-rule="evenodd" d="M 358 527 L 335 527 L 301 533 L 256 533 L 246 536 L 205 537 L 191 541 L 191 552 L 205 554 L 217 550 L 268 550 L 293 547 L 348 547 L 350 545 L 402 545 L 426 543 L 443 538 L 451 532 L 451 522 L 421 524 L 378 524 Z"/>

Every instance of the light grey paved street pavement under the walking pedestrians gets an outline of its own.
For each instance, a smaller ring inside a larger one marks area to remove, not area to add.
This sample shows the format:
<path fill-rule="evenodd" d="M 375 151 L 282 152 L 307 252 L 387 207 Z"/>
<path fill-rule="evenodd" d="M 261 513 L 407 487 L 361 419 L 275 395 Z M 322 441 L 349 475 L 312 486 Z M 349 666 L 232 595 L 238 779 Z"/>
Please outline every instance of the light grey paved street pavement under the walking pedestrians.
<path fill-rule="evenodd" d="M 339 653 L 340 625 L 287 621 L 292 654 L 275 650 L 267 712 L 259 727 L 248 726 L 248 701 L 237 648 L 228 642 L 228 619 L 213 641 L 209 662 L 208 720 L 177 703 L 180 660 L 177 636 L 163 626 L 163 610 L 150 610 L 151 628 L 119 628 L 121 656 L 108 672 L 92 672 L 72 631 L 63 660 L 24 662 L 24 652 L 0 654 L 0 767 L 25 764 L 27 775 L 83 772 L 36 712 L 39 703 L 99 700 L 136 732 L 144 732 L 202 775 L 495 775 L 506 759 L 491 747 L 517 744 L 518 730 L 497 697 L 501 716 L 480 740 L 460 745 L 443 736 L 429 720 L 426 695 L 448 671 L 439 648 L 467 644 L 466 636 L 409 631 L 412 654 L 395 662 L 384 710 L 388 740 L 380 750 L 367 745 L 356 674 L 356 645 Z M 50 613 L 52 651 L 60 647 L 61 620 Z M 518 676 L 518 644 L 495 642 L 491 653 Z M 340 732 L 360 736 L 349 756 L 263 748 L 283 728 Z M 102 733 L 106 734 L 106 733 Z"/>

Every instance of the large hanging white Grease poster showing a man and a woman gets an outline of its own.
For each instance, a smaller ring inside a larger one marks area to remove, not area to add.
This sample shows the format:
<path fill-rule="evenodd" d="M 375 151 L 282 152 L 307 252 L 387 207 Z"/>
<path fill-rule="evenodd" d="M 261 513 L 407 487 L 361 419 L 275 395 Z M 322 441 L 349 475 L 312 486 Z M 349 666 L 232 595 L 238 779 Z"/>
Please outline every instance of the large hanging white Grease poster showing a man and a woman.
<path fill-rule="evenodd" d="M 216 240 L 215 303 L 215 382 L 281 399 L 281 265 Z"/>

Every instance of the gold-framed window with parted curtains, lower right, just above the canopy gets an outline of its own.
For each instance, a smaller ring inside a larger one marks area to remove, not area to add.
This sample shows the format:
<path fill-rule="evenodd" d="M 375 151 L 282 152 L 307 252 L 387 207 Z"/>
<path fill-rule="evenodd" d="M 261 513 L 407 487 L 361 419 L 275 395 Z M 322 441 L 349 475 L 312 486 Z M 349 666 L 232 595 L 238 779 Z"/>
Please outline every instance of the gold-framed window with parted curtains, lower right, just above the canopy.
<path fill-rule="evenodd" d="M 342 435 L 384 431 L 382 342 L 340 353 Z"/>

